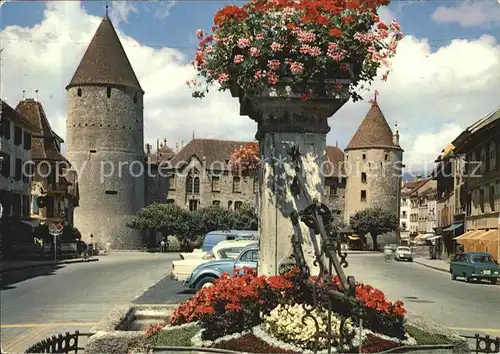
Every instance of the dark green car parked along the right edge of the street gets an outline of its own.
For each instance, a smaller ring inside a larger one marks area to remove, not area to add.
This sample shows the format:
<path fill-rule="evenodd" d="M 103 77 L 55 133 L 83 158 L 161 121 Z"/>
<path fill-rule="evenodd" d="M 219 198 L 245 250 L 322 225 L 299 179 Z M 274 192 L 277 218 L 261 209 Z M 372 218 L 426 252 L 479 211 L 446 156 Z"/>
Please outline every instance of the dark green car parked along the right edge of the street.
<path fill-rule="evenodd" d="M 485 279 L 496 284 L 500 278 L 500 267 L 489 253 L 466 252 L 450 263 L 450 274 L 452 280 L 458 277 L 464 278 L 466 282 Z"/>

